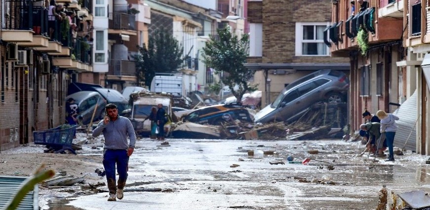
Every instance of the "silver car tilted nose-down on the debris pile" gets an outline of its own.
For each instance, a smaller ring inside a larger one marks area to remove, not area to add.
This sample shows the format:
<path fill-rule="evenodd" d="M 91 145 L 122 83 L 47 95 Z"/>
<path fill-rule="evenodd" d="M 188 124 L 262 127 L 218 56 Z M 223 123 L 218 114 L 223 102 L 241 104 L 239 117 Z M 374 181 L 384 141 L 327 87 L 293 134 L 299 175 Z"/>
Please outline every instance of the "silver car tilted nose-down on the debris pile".
<path fill-rule="evenodd" d="M 320 70 L 288 84 L 274 100 L 254 115 L 256 123 L 292 122 L 318 103 L 347 100 L 350 81 L 340 71 Z"/>

